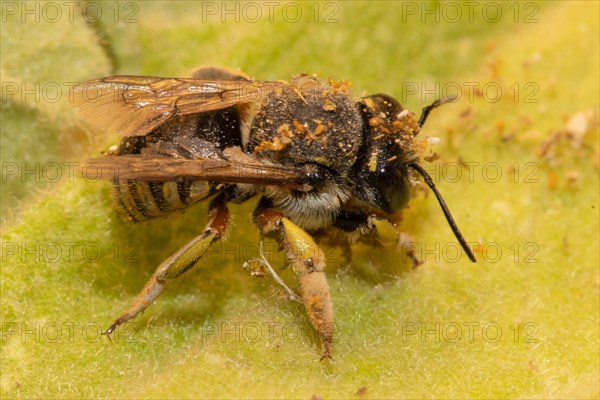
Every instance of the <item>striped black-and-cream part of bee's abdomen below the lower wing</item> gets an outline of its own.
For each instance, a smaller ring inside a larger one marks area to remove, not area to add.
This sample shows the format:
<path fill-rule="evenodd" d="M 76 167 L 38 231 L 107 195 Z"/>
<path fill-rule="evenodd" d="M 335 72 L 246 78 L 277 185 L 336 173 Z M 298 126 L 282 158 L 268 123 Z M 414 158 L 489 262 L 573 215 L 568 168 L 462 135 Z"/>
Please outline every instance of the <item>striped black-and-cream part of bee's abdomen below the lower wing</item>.
<path fill-rule="evenodd" d="M 119 180 L 114 183 L 114 193 L 119 214 L 138 222 L 187 208 L 204 200 L 214 193 L 214 190 L 206 181 Z"/>

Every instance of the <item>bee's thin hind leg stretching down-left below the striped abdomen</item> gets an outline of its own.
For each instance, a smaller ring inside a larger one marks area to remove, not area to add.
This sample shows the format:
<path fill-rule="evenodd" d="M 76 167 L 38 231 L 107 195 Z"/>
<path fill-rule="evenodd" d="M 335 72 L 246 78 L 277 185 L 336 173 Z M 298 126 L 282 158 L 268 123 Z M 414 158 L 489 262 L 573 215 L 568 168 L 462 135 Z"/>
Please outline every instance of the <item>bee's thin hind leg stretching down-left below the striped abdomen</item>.
<path fill-rule="evenodd" d="M 107 330 L 110 335 L 119 325 L 135 318 L 163 292 L 167 284 L 190 270 L 206 254 L 209 247 L 223 238 L 230 221 L 223 196 L 217 196 L 209 206 L 209 221 L 204 232 L 167 258 L 156 269 L 129 308 Z"/>

